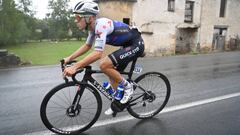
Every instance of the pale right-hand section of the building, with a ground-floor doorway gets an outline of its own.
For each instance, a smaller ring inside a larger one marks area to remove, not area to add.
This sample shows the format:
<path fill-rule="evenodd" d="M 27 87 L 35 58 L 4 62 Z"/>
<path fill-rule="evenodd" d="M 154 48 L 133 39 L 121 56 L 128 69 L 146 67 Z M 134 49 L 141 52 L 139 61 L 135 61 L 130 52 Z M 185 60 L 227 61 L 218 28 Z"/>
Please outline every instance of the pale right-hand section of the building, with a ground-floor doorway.
<path fill-rule="evenodd" d="M 201 48 L 206 50 L 229 50 L 232 39 L 240 36 L 239 0 L 202 0 Z"/>

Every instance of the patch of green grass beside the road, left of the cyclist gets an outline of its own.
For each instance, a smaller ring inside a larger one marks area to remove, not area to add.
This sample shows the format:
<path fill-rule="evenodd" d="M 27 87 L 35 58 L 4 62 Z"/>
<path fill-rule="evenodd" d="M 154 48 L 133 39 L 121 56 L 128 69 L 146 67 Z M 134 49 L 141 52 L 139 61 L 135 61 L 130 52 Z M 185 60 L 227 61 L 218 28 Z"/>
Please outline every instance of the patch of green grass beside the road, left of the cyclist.
<path fill-rule="evenodd" d="M 24 63 L 53 65 L 59 63 L 59 60 L 62 58 L 72 54 L 84 43 L 85 41 L 32 42 L 15 46 L 3 46 L 1 48 L 19 56 Z M 79 59 L 84 56 L 81 56 Z"/>

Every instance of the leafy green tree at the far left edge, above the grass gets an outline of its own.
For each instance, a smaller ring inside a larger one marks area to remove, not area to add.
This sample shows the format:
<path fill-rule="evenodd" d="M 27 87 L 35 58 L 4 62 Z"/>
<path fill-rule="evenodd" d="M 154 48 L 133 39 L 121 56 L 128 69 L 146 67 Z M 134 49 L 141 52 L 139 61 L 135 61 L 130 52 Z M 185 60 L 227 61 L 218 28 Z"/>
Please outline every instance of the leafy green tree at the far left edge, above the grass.
<path fill-rule="evenodd" d="M 0 11 L 0 45 L 26 41 L 29 29 L 23 20 L 23 13 L 16 9 L 14 0 L 3 0 Z"/>

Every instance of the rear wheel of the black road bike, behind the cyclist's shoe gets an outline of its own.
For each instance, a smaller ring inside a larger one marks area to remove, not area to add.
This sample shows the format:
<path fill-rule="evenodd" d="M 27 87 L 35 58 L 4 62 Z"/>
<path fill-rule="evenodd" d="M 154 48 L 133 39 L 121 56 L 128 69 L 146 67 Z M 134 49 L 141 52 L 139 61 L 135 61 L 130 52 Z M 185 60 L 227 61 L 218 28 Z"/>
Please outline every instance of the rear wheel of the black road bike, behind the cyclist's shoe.
<path fill-rule="evenodd" d="M 138 84 L 130 101 L 128 112 L 139 119 L 151 118 L 158 114 L 170 97 L 170 83 L 158 72 L 148 72 L 135 79 Z"/>

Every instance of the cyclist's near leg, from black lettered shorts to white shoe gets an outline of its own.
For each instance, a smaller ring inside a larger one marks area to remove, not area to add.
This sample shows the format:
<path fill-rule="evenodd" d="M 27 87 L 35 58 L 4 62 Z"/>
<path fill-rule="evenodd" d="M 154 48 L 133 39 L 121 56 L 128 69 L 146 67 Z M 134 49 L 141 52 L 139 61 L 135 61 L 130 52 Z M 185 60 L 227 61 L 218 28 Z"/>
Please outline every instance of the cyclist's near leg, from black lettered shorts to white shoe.
<path fill-rule="evenodd" d="M 144 52 L 144 42 L 141 37 L 135 39 L 130 46 L 121 48 L 108 57 L 105 57 L 101 62 L 101 70 L 112 79 L 112 86 L 117 87 L 121 83 L 125 89 L 124 97 L 121 103 L 126 103 L 131 94 L 132 86 L 124 79 L 118 71 L 123 71 L 127 64 L 134 59 L 137 59 Z M 117 70 L 116 70 L 117 69 Z M 129 90 L 129 93 L 128 93 Z"/>

